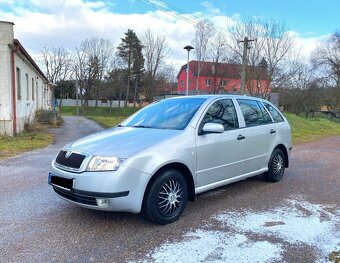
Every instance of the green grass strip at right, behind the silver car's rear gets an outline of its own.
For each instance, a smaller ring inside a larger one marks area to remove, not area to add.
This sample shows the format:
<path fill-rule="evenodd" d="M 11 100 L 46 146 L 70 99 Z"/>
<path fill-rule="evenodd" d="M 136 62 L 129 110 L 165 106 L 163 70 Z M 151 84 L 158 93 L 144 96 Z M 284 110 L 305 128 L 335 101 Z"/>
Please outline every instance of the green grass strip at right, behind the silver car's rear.
<path fill-rule="evenodd" d="M 340 124 L 318 115 L 316 118 L 304 118 L 285 113 L 291 129 L 293 143 L 316 141 L 324 137 L 340 136 Z"/>

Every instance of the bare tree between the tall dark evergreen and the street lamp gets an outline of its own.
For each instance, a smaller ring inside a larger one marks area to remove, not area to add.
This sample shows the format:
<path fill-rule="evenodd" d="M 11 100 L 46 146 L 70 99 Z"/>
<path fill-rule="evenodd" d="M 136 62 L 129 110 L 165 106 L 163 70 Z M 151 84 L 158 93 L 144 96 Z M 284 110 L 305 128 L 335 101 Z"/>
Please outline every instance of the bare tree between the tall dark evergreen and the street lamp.
<path fill-rule="evenodd" d="M 141 38 L 145 58 L 144 95 L 152 101 L 156 89 L 157 78 L 165 65 L 169 53 L 168 43 L 164 35 L 154 35 L 150 29 Z"/>

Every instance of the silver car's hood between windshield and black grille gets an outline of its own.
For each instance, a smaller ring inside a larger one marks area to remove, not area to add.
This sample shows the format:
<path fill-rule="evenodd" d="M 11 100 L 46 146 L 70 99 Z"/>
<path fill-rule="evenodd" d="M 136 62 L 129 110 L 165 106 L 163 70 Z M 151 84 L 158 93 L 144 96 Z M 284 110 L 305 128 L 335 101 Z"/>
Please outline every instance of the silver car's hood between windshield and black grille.
<path fill-rule="evenodd" d="M 178 135 L 181 130 L 117 127 L 94 133 L 65 146 L 95 156 L 128 158 L 132 154 Z"/>

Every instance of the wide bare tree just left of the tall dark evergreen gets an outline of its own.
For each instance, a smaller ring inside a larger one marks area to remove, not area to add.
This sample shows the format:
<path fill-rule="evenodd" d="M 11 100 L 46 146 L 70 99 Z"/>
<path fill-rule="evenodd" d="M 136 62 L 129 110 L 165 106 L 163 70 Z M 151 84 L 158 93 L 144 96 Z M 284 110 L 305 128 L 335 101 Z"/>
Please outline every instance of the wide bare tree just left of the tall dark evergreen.
<path fill-rule="evenodd" d="M 85 39 L 76 48 L 73 72 L 81 88 L 82 105 L 87 105 L 91 96 L 96 98 L 96 106 L 98 105 L 104 78 L 110 70 L 113 51 L 110 40 L 103 38 Z"/>

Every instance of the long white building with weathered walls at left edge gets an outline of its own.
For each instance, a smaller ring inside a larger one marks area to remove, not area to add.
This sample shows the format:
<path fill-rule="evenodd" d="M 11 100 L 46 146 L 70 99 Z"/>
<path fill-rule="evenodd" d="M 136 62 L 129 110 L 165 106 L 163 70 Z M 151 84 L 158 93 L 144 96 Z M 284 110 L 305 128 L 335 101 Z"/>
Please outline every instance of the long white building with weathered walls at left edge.
<path fill-rule="evenodd" d="M 14 23 L 0 21 L 0 134 L 15 135 L 48 109 L 52 90 L 48 80 L 21 43 Z"/>

